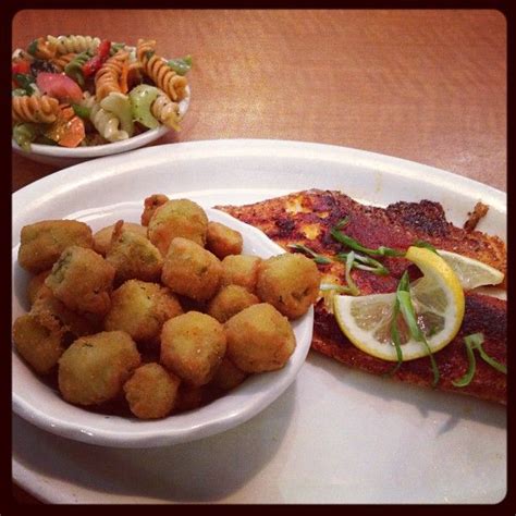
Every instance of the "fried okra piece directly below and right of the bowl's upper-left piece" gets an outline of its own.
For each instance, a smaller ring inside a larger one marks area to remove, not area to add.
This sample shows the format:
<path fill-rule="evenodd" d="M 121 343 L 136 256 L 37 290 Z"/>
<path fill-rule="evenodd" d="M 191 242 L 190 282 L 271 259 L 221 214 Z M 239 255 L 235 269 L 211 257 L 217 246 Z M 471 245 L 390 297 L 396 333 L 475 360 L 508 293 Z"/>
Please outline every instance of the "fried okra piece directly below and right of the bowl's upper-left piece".
<path fill-rule="evenodd" d="M 111 305 L 114 272 L 93 249 L 71 246 L 53 265 L 45 284 L 70 309 L 102 316 Z"/>

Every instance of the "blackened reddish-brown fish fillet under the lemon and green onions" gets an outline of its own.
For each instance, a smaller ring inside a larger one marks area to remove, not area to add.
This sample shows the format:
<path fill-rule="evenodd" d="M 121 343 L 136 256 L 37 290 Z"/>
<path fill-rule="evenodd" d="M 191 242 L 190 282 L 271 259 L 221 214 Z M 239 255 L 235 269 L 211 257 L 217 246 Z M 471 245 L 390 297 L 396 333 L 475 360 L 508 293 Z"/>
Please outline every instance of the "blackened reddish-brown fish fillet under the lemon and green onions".
<path fill-rule="evenodd" d="M 506 273 L 506 246 L 496 236 L 479 231 L 466 231 L 446 221 L 438 202 L 396 202 L 386 208 L 361 205 L 351 197 L 330 191 L 310 189 L 246 206 L 218 206 L 218 209 L 263 231 L 286 250 L 290 244 L 303 244 L 319 255 L 334 256 L 341 244 L 330 230 L 348 218 L 345 233 L 369 248 L 380 246 L 404 250 L 417 241 L 435 248 L 458 253 L 483 261 Z M 377 275 L 354 269 L 352 272 L 360 293 L 394 292 L 403 272 L 417 270 L 403 258 L 384 258 L 390 274 Z M 344 265 L 332 261 L 319 265 L 324 282 L 345 284 Z M 466 311 L 459 333 L 442 351 L 434 354 L 440 381 L 438 389 L 472 395 L 482 400 L 506 403 L 506 376 L 477 358 L 477 370 L 470 384 L 455 388 L 468 368 L 464 336 L 481 332 L 483 348 L 506 364 L 506 302 L 476 293 L 466 294 Z M 393 363 L 372 357 L 354 346 L 339 329 L 324 299 L 316 305 L 312 348 L 349 367 L 384 374 Z M 397 380 L 430 386 L 433 374 L 428 357 L 404 363 L 394 373 Z"/>

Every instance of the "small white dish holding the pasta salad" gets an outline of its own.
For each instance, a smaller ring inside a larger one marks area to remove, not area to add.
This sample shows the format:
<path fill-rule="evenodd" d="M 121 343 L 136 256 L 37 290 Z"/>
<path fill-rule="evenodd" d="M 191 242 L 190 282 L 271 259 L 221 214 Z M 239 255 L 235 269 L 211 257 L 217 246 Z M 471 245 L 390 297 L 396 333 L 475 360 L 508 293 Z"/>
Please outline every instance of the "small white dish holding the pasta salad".
<path fill-rule="evenodd" d="M 187 96 L 180 102 L 180 115 L 183 118 L 189 107 L 191 88 L 186 87 Z M 71 167 L 83 161 L 106 156 L 119 155 L 128 150 L 138 149 L 164 136 L 171 131 L 165 125 L 159 125 L 153 130 L 133 136 L 132 138 L 122 139 L 105 145 L 95 145 L 91 147 L 66 148 L 54 145 L 30 144 L 30 150 L 22 149 L 14 139 L 11 140 L 14 152 L 26 158 L 37 161 L 38 163 L 53 164 L 57 167 Z"/>

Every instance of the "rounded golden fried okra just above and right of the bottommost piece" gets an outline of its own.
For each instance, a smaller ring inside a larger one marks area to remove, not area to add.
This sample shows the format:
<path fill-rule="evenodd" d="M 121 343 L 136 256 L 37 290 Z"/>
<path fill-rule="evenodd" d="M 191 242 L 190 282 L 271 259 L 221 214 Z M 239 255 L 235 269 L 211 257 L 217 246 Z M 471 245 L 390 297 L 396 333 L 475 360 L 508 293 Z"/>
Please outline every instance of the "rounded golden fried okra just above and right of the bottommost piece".
<path fill-rule="evenodd" d="M 208 383 L 225 354 L 223 325 L 210 316 L 188 311 L 161 330 L 160 361 L 194 386 Z"/>

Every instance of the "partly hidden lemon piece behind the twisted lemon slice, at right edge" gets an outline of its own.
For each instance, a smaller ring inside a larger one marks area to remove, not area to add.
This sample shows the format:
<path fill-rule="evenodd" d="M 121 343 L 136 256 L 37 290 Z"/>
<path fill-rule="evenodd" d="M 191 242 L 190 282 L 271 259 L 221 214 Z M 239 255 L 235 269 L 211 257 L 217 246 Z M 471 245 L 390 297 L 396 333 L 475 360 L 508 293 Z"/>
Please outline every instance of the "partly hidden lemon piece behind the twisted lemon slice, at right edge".
<path fill-rule="evenodd" d="M 440 256 L 453 269 L 465 291 L 484 285 L 497 285 L 502 283 L 504 274 L 494 267 L 481 261 L 457 255 L 450 250 L 438 249 Z"/>

